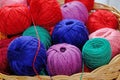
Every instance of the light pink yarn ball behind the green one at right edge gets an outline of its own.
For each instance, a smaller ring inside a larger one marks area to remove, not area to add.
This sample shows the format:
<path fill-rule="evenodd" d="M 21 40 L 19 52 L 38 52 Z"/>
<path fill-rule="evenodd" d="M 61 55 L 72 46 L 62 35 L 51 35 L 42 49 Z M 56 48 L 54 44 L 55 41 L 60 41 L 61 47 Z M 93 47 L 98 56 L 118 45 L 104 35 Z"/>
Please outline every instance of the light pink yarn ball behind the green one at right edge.
<path fill-rule="evenodd" d="M 112 57 L 120 53 L 120 31 L 111 28 L 102 28 L 89 35 L 89 38 L 105 38 L 111 44 Z"/>

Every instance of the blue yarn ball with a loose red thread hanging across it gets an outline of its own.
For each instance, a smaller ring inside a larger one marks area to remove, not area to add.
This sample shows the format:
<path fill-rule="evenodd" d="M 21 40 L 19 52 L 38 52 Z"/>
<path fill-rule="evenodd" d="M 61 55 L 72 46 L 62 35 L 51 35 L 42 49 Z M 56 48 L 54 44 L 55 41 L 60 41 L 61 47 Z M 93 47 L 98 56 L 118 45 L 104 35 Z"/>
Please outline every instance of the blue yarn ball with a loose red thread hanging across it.
<path fill-rule="evenodd" d="M 38 50 L 38 39 L 31 36 L 21 36 L 14 39 L 8 47 L 8 61 L 10 68 L 16 75 L 33 76 L 46 67 L 47 56 L 44 45 L 40 42 L 40 50 Z M 38 55 L 36 55 L 38 51 Z M 36 60 L 33 64 L 33 60 Z"/>

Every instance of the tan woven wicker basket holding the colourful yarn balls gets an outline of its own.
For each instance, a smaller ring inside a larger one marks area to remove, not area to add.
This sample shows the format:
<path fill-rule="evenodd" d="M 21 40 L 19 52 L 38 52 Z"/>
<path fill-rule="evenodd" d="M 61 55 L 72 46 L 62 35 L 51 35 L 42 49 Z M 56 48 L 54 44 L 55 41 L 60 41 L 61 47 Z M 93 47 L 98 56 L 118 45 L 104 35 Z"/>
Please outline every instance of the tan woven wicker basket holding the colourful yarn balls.
<path fill-rule="evenodd" d="M 64 0 L 58 0 L 62 5 Z M 120 29 L 120 12 L 114 7 L 95 3 L 93 10 L 105 9 L 114 13 L 119 21 Z M 82 75 L 82 80 L 120 80 L 120 54 L 114 57 L 108 65 L 101 66 L 91 73 L 78 73 L 72 76 L 58 75 L 53 76 L 8 76 L 0 74 L 0 80 L 80 80 Z"/>

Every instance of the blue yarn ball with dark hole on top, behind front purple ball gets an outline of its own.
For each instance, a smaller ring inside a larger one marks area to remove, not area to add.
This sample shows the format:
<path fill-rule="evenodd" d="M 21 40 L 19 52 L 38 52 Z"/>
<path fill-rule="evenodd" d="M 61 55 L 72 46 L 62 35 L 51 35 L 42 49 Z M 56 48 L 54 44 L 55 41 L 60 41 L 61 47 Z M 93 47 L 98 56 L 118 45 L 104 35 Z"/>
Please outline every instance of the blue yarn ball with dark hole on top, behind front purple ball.
<path fill-rule="evenodd" d="M 59 22 L 52 33 L 52 41 L 57 43 L 68 43 L 82 49 L 88 40 L 88 31 L 84 23 L 75 19 L 65 19 Z"/>

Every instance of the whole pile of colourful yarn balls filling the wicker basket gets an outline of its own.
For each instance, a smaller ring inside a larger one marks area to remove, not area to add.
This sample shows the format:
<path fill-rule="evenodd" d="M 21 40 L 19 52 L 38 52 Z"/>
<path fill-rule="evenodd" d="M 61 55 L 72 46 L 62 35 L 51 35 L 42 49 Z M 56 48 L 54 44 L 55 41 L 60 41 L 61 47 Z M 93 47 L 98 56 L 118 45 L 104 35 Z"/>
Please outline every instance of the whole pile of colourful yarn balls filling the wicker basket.
<path fill-rule="evenodd" d="M 0 73 L 72 75 L 120 53 L 116 15 L 94 0 L 1 0 Z M 84 66 L 86 67 L 84 67 Z"/>

